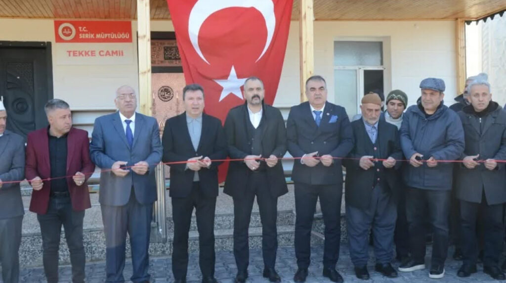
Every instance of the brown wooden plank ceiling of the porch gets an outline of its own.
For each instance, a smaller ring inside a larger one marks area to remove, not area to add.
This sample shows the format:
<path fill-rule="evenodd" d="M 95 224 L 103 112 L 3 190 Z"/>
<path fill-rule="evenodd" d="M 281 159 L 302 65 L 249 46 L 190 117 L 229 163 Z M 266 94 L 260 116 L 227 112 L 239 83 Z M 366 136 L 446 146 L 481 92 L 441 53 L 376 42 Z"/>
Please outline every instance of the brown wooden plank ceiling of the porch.
<path fill-rule="evenodd" d="M 0 18 L 130 20 L 136 5 L 136 0 L 0 0 Z M 314 0 L 316 20 L 476 20 L 504 9 L 506 0 Z M 151 0 L 151 19 L 170 18 L 166 0 Z M 298 18 L 294 0 L 292 19 Z"/>

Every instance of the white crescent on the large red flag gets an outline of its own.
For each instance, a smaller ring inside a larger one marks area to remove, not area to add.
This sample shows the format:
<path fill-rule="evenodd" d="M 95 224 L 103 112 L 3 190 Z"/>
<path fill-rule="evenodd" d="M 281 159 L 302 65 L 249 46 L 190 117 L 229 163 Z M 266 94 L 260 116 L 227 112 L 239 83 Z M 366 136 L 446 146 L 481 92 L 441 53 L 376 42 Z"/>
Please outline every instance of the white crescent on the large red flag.
<path fill-rule="evenodd" d="M 272 0 L 198 0 L 193 6 L 188 19 L 188 35 L 190 41 L 197 52 L 197 54 L 207 64 L 209 62 L 205 59 L 200 47 L 198 45 L 198 33 L 204 21 L 213 13 L 226 8 L 255 8 L 264 17 L 267 26 L 267 41 L 262 51 L 262 54 L 257 59 L 260 60 L 265 52 L 271 45 L 272 37 L 274 36 L 274 29 L 276 27 L 276 15 L 274 14 L 274 3 Z"/>

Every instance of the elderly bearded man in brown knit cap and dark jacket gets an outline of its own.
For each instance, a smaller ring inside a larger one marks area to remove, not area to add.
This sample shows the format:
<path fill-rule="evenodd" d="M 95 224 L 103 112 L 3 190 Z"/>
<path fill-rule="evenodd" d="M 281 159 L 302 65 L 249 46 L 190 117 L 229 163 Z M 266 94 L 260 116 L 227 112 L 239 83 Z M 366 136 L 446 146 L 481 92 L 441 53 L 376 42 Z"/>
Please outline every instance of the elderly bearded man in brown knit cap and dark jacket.
<path fill-rule="evenodd" d="M 374 235 L 374 269 L 387 277 L 397 277 L 390 262 L 397 219 L 395 200 L 400 187 L 396 170 L 401 163 L 396 160 L 402 159 L 402 151 L 397 127 L 379 119 L 381 106 L 376 94 L 362 98 L 362 118 L 351 123 L 355 145 L 349 157 L 353 159 L 344 161 L 350 257 L 357 278 L 364 280 L 369 279 L 369 229 Z"/>

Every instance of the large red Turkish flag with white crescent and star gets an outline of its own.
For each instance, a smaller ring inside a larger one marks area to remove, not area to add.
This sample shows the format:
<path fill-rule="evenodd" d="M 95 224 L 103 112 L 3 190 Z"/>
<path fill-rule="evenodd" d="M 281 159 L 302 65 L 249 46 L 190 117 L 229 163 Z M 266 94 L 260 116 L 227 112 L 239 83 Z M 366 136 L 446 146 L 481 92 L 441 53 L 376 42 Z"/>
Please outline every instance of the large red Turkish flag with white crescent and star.
<path fill-rule="evenodd" d="M 187 84 L 204 89 L 205 112 L 225 121 L 244 103 L 249 76 L 272 105 L 281 76 L 293 0 L 167 0 Z M 296 94 L 294 94 L 296 95 Z M 298 95 L 298 94 L 297 94 Z M 223 167 L 220 179 L 223 179 Z"/>

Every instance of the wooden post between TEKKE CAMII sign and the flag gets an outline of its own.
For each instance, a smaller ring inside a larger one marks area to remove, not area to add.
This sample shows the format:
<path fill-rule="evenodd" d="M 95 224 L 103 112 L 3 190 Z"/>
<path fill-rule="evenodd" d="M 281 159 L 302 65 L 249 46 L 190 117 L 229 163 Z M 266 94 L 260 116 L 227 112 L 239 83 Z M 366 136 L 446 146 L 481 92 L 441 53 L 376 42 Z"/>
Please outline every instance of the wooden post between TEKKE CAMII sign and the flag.
<path fill-rule="evenodd" d="M 137 41 L 139 57 L 139 110 L 151 116 L 151 30 L 149 0 L 137 0 Z"/>

